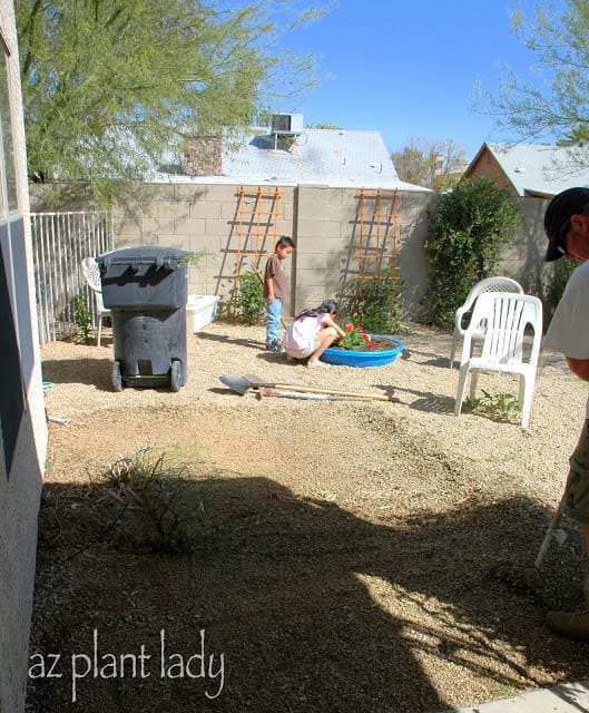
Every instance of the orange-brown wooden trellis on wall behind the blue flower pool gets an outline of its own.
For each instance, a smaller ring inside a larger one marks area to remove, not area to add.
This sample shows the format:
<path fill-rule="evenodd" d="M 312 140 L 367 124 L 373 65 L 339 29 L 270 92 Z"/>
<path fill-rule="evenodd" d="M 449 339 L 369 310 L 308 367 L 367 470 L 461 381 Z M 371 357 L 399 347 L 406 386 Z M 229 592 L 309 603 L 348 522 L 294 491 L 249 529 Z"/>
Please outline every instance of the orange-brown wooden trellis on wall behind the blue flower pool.
<path fill-rule="evenodd" d="M 355 253 L 359 277 L 379 277 L 396 264 L 399 191 L 362 188 L 357 212 Z"/>

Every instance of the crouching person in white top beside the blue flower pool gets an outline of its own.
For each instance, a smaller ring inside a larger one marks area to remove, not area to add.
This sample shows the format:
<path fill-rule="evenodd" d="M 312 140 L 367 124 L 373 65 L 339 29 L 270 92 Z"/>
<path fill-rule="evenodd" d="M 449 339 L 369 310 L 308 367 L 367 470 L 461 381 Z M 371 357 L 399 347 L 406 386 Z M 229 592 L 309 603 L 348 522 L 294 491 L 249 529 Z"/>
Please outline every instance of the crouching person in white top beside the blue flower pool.
<path fill-rule="evenodd" d="M 333 318 L 337 313 L 337 303 L 326 300 L 318 307 L 304 310 L 288 328 L 284 338 L 284 351 L 293 359 L 307 359 L 307 367 L 328 367 L 320 356 L 336 339 L 345 332 Z"/>

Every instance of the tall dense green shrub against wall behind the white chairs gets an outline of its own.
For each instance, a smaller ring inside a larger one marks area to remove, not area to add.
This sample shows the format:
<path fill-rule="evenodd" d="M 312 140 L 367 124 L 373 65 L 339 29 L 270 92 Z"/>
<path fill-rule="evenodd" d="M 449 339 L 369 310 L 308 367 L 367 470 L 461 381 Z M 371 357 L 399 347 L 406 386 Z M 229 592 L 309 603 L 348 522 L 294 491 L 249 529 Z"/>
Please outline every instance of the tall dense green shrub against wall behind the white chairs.
<path fill-rule="evenodd" d="M 426 323 L 451 326 L 473 284 L 491 276 L 519 224 L 509 192 L 489 178 L 461 180 L 429 213 L 425 254 L 431 271 L 423 300 Z"/>

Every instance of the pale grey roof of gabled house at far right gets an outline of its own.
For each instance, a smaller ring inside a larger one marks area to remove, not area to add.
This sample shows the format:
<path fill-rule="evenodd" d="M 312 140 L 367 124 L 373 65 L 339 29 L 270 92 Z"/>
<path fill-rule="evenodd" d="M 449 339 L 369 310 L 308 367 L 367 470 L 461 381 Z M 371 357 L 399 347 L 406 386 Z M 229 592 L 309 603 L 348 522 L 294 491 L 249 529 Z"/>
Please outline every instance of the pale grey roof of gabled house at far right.
<path fill-rule="evenodd" d="M 572 186 L 589 186 L 587 148 L 541 144 L 484 144 L 481 152 L 485 146 L 520 196 L 548 197 Z"/>

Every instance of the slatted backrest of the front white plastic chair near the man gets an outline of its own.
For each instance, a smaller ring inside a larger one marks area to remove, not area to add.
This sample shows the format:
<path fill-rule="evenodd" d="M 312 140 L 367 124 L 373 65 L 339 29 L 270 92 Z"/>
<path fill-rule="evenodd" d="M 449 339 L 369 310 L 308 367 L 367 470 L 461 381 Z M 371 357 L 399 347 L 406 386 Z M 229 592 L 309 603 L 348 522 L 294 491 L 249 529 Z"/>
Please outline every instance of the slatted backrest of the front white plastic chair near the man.
<path fill-rule="evenodd" d="M 480 323 L 485 322 L 481 356 L 477 361 L 492 364 L 533 364 L 538 362 L 542 336 L 542 303 L 531 294 L 512 292 L 484 292 L 472 311 L 472 319 L 464 334 L 462 363 L 469 361 L 471 340 Z M 523 342 L 526 328 L 533 330 L 530 352 L 524 362 Z"/>

